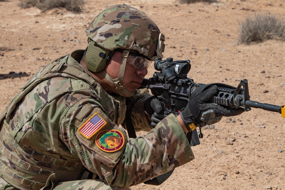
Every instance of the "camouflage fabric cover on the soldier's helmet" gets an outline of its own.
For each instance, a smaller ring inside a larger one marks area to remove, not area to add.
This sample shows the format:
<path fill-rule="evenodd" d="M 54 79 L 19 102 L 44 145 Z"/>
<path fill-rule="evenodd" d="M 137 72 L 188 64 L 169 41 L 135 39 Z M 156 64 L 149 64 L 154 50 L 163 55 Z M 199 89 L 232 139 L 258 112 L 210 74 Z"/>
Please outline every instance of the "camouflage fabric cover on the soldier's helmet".
<path fill-rule="evenodd" d="M 86 35 L 107 50 L 137 50 L 151 59 L 157 56 L 159 34 L 159 28 L 148 16 L 128 5 L 105 9 L 86 29 Z"/>

